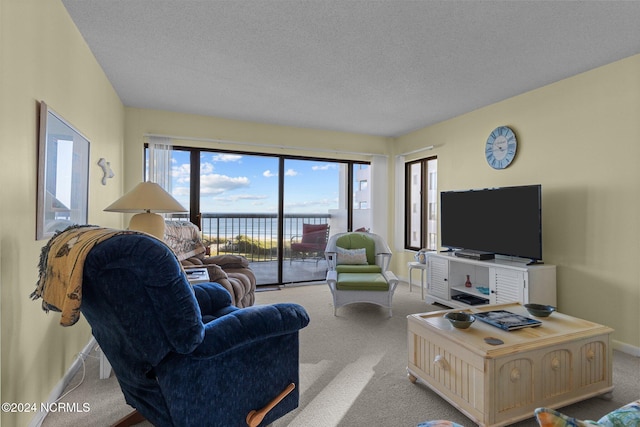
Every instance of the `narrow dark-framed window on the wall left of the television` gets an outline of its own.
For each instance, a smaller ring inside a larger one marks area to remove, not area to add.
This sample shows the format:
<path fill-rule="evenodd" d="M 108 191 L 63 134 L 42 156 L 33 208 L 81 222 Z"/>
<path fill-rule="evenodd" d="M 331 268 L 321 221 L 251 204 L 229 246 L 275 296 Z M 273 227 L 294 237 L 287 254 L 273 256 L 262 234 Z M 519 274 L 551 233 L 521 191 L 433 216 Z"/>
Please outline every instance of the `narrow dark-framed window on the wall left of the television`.
<path fill-rule="evenodd" d="M 406 249 L 436 250 L 438 245 L 438 161 L 414 160 L 405 168 Z"/>

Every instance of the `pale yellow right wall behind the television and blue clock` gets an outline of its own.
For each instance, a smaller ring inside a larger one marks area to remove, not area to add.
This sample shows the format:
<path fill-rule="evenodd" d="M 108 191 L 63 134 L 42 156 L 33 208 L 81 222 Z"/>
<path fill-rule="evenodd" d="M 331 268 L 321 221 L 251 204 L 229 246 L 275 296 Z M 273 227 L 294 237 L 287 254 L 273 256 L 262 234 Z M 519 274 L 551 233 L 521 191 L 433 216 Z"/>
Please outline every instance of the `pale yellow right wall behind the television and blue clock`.
<path fill-rule="evenodd" d="M 501 125 L 518 152 L 496 171 L 484 145 Z M 405 135 L 395 149 L 429 145 L 441 191 L 542 184 L 543 256 L 557 265 L 559 308 L 615 328 L 638 351 L 640 55 Z M 396 258 L 399 271 L 410 255 Z"/>

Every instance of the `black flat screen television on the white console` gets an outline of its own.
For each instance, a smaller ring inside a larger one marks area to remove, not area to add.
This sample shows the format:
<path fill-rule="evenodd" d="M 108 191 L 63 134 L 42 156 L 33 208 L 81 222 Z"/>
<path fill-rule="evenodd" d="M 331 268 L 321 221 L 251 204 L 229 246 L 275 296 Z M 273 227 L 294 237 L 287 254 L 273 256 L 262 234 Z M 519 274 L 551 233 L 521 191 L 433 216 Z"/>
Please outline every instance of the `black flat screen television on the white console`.
<path fill-rule="evenodd" d="M 442 246 L 542 260 L 542 186 L 440 193 Z"/>

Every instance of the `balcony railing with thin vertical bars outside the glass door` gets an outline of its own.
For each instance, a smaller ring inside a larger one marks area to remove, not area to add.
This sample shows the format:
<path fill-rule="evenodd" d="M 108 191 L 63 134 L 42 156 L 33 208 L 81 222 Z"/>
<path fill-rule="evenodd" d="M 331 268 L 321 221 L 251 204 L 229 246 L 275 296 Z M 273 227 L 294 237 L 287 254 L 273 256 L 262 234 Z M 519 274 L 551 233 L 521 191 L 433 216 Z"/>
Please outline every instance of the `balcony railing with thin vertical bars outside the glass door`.
<path fill-rule="evenodd" d="M 170 215 L 172 220 L 188 220 L 188 214 Z M 328 213 L 285 214 L 284 257 L 289 256 L 292 237 L 302 235 L 302 224 L 327 224 Z M 211 255 L 239 254 L 250 262 L 278 259 L 278 215 L 246 213 L 203 213 L 202 240 Z"/>

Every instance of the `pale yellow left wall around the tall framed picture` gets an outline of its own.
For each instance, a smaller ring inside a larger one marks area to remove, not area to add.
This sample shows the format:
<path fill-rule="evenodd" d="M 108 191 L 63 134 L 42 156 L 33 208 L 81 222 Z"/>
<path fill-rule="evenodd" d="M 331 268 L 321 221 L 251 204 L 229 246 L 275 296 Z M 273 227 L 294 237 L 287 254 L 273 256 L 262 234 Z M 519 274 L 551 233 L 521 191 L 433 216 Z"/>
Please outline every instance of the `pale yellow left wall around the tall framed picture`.
<path fill-rule="evenodd" d="M 0 303 L 2 402 L 44 402 L 87 344 L 84 319 L 63 328 L 35 289 L 45 240 L 35 240 L 38 103 L 45 101 L 91 143 L 89 222 L 119 227 L 102 209 L 122 194 L 124 108 L 59 0 L 0 0 Z M 98 159 L 115 178 L 101 184 Z M 3 426 L 34 414 L 2 413 Z"/>

